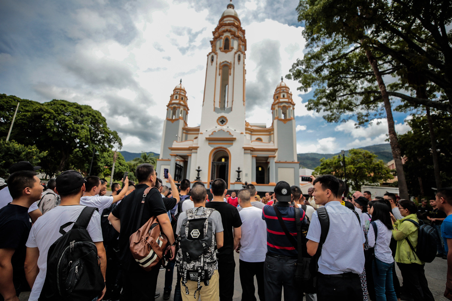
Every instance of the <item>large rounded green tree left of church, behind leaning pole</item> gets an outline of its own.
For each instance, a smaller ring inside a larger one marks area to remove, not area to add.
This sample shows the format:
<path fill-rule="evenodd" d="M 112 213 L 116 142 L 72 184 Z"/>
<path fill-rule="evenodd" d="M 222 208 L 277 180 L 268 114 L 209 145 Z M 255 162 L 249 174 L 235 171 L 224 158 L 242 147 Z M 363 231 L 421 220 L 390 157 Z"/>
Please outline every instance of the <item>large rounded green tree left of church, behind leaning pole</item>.
<path fill-rule="evenodd" d="M 94 148 L 103 152 L 122 146 L 118 133 L 88 105 L 56 99 L 38 103 L 5 94 L 0 94 L 0 136 L 7 135 L 17 102 L 20 105 L 11 139 L 48 151 L 42 160 L 47 174 L 68 167 L 86 172 Z"/>

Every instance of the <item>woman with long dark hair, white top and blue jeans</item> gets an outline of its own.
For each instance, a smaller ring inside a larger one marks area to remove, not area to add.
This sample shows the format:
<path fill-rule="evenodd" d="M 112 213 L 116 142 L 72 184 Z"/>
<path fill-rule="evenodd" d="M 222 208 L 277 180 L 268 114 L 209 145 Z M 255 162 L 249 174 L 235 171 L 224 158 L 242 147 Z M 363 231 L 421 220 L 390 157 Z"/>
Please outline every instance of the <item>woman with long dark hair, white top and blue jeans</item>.
<path fill-rule="evenodd" d="M 370 213 L 372 215 L 371 224 L 375 224 L 377 227 L 377 235 L 375 235 L 373 225 L 369 226 L 369 232 L 367 233 L 369 246 L 375 247 L 372 274 L 376 299 L 377 301 L 397 301 L 392 283 L 394 258 L 389 248 L 392 236 L 390 210 L 386 204 L 375 202 L 370 208 Z M 377 240 L 375 236 L 377 236 Z M 394 275 L 394 277 L 397 276 Z"/>

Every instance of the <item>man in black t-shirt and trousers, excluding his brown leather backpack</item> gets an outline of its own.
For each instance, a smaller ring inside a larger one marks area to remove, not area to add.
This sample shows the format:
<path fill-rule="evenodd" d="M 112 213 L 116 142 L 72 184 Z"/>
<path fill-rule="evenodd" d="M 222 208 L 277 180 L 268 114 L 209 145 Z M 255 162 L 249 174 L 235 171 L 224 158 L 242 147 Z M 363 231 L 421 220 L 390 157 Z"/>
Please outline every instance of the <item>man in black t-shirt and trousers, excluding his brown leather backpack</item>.
<path fill-rule="evenodd" d="M 155 300 L 160 264 L 157 264 L 149 272 L 142 269 L 132 257 L 129 249 L 129 237 L 143 226 L 151 216 L 156 216 L 163 233 L 168 237 L 169 245 L 166 252 L 172 252 L 171 259 L 174 259 L 175 255 L 175 243 L 173 228 L 160 192 L 157 189 L 151 189 L 146 195 L 145 203 L 141 204 L 145 189 L 155 186 L 157 177 L 154 167 L 150 164 L 138 165 L 135 176 L 138 179 L 136 189 L 122 199 L 110 213 L 108 220 L 119 232 L 120 264 L 123 276 L 119 300 L 149 301 Z M 144 206 L 143 215 L 137 226 L 141 206 Z"/>

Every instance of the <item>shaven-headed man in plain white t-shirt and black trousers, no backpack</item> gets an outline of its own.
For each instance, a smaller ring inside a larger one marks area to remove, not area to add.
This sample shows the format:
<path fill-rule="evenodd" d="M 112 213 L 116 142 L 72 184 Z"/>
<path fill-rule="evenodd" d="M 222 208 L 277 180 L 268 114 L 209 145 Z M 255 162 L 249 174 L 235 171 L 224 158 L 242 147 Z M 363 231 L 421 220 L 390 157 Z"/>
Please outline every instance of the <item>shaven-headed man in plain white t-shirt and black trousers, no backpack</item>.
<path fill-rule="evenodd" d="M 236 251 L 240 253 L 240 284 L 242 300 L 254 300 L 254 276 L 257 280 L 257 293 L 260 300 L 264 296 L 264 261 L 267 253 L 267 226 L 262 219 L 262 209 L 250 202 L 250 190 L 240 189 L 237 198 L 242 220 L 242 238 Z M 254 195 L 253 195 L 254 197 Z"/>

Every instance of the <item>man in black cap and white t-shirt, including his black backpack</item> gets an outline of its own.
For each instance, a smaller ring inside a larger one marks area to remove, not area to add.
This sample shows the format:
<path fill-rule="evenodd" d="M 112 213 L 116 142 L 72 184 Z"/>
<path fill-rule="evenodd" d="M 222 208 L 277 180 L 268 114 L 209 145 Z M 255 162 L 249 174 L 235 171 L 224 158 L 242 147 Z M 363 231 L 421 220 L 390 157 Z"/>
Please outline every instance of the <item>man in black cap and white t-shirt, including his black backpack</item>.
<path fill-rule="evenodd" d="M 29 301 L 104 296 L 106 258 L 100 215 L 95 208 L 80 205 L 84 192 L 85 179 L 79 172 L 67 170 L 56 178 L 61 203 L 38 218 L 26 244 Z"/>

